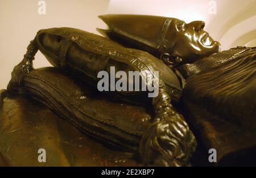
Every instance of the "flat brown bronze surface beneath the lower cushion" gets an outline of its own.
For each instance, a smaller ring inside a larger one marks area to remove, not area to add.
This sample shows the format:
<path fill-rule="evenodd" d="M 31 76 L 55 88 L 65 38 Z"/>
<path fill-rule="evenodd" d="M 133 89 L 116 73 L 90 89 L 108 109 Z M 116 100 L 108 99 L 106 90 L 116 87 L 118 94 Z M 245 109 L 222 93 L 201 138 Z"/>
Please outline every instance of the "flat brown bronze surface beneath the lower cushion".
<path fill-rule="evenodd" d="M 98 142 L 28 96 L 6 97 L 0 108 L 0 165 L 137 166 L 131 152 Z M 46 150 L 46 163 L 38 150 Z"/>

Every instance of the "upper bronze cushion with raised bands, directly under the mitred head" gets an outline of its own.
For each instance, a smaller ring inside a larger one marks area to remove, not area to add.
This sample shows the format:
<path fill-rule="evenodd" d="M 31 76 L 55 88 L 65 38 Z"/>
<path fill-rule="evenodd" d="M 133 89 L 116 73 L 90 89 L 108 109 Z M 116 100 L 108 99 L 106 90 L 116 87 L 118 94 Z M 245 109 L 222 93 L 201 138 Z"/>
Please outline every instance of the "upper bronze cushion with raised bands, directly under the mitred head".
<path fill-rule="evenodd" d="M 110 73 L 110 67 L 126 72 L 127 76 L 129 71 L 141 72 L 145 80 L 153 80 L 156 77 L 154 72 L 158 71 L 159 80 L 167 86 L 172 100 L 178 101 L 181 96 L 182 82 L 175 74 L 177 71 L 172 71 L 163 61 L 147 52 L 125 48 L 112 40 L 75 28 L 40 30 L 35 40 L 39 50 L 53 66 L 63 68 L 95 86 L 100 80 L 97 78 L 98 72 Z M 129 98 L 131 94 L 137 96 L 131 101 L 143 95 L 143 91 L 118 92 L 122 98 L 128 93 Z"/>

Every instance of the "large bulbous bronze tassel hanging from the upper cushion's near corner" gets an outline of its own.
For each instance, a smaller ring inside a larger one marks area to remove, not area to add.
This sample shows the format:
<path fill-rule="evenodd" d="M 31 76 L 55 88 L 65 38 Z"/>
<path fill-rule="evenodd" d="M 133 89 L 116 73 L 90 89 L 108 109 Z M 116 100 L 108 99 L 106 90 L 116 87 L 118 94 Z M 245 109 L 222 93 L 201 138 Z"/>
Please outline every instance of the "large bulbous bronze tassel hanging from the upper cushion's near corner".
<path fill-rule="evenodd" d="M 183 116 L 174 110 L 169 94 L 159 81 L 159 95 L 153 98 L 155 119 L 142 136 L 139 153 L 146 165 L 189 166 L 196 139 Z"/>

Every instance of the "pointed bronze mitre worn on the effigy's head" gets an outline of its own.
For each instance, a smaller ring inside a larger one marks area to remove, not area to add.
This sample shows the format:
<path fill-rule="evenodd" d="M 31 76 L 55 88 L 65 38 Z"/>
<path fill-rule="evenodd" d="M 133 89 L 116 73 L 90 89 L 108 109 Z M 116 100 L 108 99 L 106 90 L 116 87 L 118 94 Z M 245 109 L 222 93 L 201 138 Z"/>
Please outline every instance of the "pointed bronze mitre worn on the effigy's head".
<path fill-rule="evenodd" d="M 173 18 L 119 14 L 98 17 L 108 25 L 109 29 L 97 28 L 97 31 L 115 42 L 147 51 L 156 57 L 169 51 L 171 39 L 168 39 L 168 30 Z"/>

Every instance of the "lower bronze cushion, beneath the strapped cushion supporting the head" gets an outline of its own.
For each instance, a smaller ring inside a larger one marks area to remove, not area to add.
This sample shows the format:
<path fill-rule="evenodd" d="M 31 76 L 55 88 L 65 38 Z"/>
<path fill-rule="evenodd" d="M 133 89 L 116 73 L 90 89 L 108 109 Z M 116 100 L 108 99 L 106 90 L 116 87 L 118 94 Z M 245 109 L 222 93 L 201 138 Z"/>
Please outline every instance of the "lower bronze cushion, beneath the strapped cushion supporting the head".
<path fill-rule="evenodd" d="M 152 122 L 151 106 L 131 105 L 97 92 L 58 68 L 31 71 L 24 76 L 22 88 L 84 133 L 127 150 L 138 149 Z"/>

